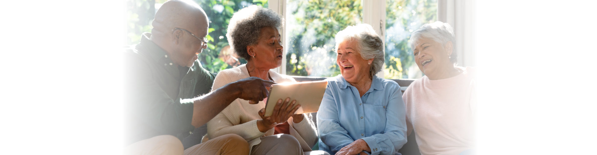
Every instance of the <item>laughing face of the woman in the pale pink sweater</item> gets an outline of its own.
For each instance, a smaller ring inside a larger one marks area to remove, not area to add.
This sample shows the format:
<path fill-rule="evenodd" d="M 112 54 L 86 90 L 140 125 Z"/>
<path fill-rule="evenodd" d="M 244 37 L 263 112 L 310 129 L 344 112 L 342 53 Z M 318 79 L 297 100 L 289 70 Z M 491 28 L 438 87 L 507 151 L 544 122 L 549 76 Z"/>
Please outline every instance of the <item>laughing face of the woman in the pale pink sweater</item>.
<path fill-rule="evenodd" d="M 430 79 L 447 72 L 453 67 L 453 63 L 448 58 L 452 54 L 452 42 L 442 46 L 442 44 L 432 39 L 420 38 L 415 41 L 415 44 L 413 49 L 414 61 L 417 63 L 418 69 Z"/>

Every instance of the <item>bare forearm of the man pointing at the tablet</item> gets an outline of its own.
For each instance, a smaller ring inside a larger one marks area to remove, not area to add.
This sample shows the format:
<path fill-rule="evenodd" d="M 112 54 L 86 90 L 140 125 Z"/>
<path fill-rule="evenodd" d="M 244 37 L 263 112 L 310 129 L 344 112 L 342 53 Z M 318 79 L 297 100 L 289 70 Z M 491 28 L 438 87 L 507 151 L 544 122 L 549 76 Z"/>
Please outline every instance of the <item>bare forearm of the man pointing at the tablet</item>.
<path fill-rule="evenodd" d="M 208 94 L 193 98 L 193 119 L 191 125 L 199 127 L 210 121 L 232 101 L 238 98 L 238 91 L 224 85 Z"/>

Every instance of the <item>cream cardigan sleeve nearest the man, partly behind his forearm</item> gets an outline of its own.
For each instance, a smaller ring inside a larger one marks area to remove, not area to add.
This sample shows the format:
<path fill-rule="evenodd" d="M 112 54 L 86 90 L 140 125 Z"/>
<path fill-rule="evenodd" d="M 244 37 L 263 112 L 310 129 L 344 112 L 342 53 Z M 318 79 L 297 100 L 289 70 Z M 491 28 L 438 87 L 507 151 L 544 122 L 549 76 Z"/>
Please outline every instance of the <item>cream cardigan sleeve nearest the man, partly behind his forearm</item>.
<path fill-rule="evenodd" d="M 220 72 L 214 80 L 212 90 L 233 82 L 233 74 Z M 216 117 L 207 123 L 207 134 L 210 139 L 226 134 L 237 134 L 247 141 L 259 138 L 265 134 L 257 128 L 257 120 L 251 120 L 240 124 L 241 114 L 245 113 L 241 106 L 240 99 L 232 101 L 230 105 L 222 110 Z"/>

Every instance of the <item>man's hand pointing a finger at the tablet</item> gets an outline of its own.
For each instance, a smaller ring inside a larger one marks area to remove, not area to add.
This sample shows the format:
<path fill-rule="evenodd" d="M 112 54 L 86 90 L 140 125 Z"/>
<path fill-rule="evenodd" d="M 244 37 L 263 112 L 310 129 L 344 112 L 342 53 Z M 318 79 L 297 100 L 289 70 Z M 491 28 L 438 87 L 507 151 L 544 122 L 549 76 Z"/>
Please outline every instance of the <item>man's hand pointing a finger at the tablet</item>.
<path fill-rule="evenodd" d="M 267 88 L 273 84 L 276 83 L 257 77 L 249 77 L 229 83 L 229 85 L 232 85 L 231 89 L 236 89 L 239 92 L 238 98 L 249 101 L 249 104 L 257 104 L 259 101 L 263 101 L 269 94 Z"/>

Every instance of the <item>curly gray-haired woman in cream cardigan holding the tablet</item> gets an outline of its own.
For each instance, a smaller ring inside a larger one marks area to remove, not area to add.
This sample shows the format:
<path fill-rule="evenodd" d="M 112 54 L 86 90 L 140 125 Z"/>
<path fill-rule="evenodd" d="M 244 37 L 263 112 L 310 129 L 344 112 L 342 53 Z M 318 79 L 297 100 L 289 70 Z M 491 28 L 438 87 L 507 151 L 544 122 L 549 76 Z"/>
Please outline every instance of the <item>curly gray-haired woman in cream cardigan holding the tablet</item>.
<path fill-rule="evenodd" d="M 247 64 L 222 70 L 214 80 L 213 90 L 251 76 L 277 83 L 296 82 L 290 76 L 271 69 L 281 66 L 281 35 L 284 18 L 263 7 L 251 5 L 230 19 L 226 37 L 232 51 L 247 60 Z M 264 100 L 265 101 L 265 100 Z M 210 139 L 226 134 L 245 138 L 250 154 L 327 154 L 312 151 L 317 142 L 311 114 L 294 114 L 300 107 L 290 98 L 278 100 L 272 116 L 264 116 L 265 103 L 237 98 L 207 125 Z"/>

